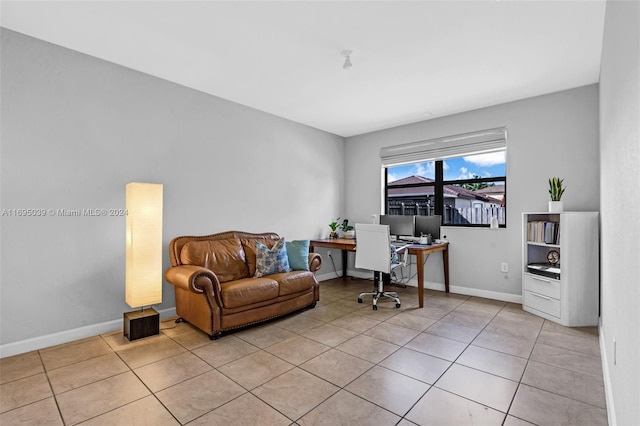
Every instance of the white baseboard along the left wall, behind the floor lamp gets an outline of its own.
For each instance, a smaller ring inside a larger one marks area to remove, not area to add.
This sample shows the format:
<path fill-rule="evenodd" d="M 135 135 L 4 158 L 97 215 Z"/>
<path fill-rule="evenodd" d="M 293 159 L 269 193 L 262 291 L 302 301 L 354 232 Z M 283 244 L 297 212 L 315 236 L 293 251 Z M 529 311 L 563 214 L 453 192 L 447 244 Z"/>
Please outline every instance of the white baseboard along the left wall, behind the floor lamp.
<path fill-rule="evenodd" d="M 158 313 L 160 314 L 160 319 L 169 318 L 176 315 L 176 308 L 162 309 L 159 310 Z M 0 345 L 0 358 L 48 348 L 50 346 L 72 342 L 86 337 L 97 336 L 99 334 L 110 333 L 112 331 L 122 330 L 123 321 L 124 320 L 121 318 L 100 324 L 92 324 L 71 330 L 60 331 L 58 333 L 47 334 L 46 336 L 32 337 L 18 342 L 6 343 L 4 345 Z"/>

